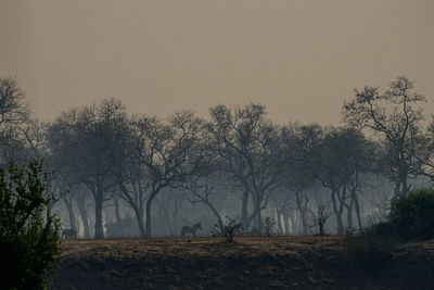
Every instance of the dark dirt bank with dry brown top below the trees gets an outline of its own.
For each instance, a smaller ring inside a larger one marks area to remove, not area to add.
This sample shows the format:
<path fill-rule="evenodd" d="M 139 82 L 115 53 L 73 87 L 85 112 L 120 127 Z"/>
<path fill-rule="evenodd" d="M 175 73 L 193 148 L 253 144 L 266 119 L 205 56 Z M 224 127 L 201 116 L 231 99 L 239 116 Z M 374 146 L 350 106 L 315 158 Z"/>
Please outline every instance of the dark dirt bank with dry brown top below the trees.
<path fill-rule="evenodd" d="M 362 265 L 340 237 L 68 240 L 50 289 L 434 289 L 434 240 Z"/>

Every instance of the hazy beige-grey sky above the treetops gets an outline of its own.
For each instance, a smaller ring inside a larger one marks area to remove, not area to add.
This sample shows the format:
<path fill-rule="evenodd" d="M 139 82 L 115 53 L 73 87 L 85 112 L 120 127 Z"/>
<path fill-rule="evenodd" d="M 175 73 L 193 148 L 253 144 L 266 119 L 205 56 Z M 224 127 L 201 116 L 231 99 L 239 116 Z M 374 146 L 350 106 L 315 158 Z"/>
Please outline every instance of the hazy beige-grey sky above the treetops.
<path fill-rule="evenodd" d="M 434 113 L 434 1 L 0 0 L 0 77 L 44 119 L 119 97 L 165 116 L 266 104 L 337 123 L 356 87 L 407 75 Z"/>

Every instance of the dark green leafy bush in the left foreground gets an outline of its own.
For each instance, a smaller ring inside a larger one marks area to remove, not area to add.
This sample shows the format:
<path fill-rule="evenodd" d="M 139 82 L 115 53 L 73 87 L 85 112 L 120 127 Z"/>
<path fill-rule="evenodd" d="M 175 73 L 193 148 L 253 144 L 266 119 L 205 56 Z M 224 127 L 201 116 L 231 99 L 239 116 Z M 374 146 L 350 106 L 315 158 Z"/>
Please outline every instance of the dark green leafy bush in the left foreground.
<path fill-rule="evenodd" d="M 43 289 L 59 265 L 60 223 L 50 212 L 40 162 L 0 168 L 0 281 L 2 289 Z"/>

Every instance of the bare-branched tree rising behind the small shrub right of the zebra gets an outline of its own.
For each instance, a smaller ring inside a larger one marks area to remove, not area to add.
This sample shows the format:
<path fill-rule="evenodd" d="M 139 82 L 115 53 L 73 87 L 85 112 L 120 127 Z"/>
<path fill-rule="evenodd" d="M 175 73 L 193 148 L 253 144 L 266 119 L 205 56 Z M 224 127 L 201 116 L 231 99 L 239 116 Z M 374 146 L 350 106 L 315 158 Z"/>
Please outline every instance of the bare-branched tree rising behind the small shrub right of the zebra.
<path fill-rule="evenodd" d="M 265 118 L 265 106 L 260 104 L 232 109 L 220 104 L 210 108 L 209 113 L 207 128 L 220 159 L 220 171 L 238 184 L 242 193 L 242 223 L 248 228 L 254 222 L 254 227 L 260 229 L 260 212 L 281 180 L 279 129 Z"/>

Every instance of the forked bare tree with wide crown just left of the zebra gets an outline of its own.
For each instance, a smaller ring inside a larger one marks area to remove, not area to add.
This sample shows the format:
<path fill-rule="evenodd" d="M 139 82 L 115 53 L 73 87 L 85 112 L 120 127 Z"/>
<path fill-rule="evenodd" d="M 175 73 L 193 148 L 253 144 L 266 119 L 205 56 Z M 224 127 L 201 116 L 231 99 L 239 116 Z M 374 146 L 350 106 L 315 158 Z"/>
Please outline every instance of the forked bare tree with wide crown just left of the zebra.
<path fill-rule="evenodd" d="M 129 159 L 119 159 L 116 180 L 119 198 L 135 210 L 142 236 L 152 236 L 152 204 L 159 192 L 181 187 L 205 166 L 202 127 L 203 122 L 190 112 L 176 113 L 167 123 L 145 115 L 133 117 L 131 153 Z"/>

